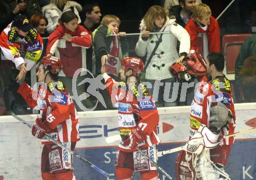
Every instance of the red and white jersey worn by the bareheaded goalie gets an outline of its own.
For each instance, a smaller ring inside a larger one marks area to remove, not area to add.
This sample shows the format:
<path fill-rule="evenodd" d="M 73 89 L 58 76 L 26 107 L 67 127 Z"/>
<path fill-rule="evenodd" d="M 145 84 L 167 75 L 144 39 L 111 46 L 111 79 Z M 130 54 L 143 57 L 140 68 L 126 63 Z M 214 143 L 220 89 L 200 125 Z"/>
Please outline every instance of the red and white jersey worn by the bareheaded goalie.
<path fill-rule="evenodd" d="M 202 78 L 204 80 L 204 78 Z M 198 89 L 195 92 L 190 111 L 190 136 L 193 136 L 195 131 L 201 124 L 209 125 L 210 108 L 218 102 L 223 103 L 232 114 L 232 120 L 221 129 L 219 139 L 223 135 L 228 135 L 234 132 L 236 114 L 234 111 L 234 103 L 231 92 L 231 83 L 225 75 L 218 76 L 211 81 L 201 81 Z M 234 136 L 221 140 L 220 145 L 233 145 Z"/>

